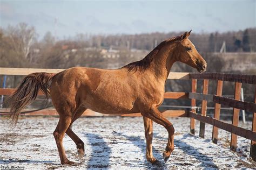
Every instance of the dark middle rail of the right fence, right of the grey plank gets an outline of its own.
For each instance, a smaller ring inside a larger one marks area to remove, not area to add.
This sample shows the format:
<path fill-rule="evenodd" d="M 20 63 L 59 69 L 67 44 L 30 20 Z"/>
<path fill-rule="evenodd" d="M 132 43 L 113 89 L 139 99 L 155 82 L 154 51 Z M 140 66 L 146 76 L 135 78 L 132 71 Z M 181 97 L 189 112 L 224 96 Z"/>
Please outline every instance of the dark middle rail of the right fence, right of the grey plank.
<path fill-rule="evenodd" d="M 226 105 L 232 108 L 256 112 L 256 104 L 251 102 L 243 102 L 232 98 L 213 96 L 213 102 Z"/>

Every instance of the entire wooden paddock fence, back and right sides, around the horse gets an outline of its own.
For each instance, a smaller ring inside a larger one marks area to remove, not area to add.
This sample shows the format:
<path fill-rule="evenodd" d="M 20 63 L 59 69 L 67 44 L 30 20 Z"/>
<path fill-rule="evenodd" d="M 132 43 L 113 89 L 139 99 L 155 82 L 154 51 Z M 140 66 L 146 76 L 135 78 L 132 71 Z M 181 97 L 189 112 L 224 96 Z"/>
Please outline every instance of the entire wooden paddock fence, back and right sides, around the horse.
<path fill-rule="evenodd" d="M 35 72 L 48 72 L 58 73 L 62 69 L 31 69 L 31 68 L 0 68 L 0 75 L 28 75 Z M 256 161 L 256 85 L 254 85 L 254 103 L 240 101 L 241 85 L 242 83 L 256 84 L 256 75 L 241 75 L 241 74 L 225 74 L 225 73 L 170 73 L 168 79 L 172 80 L 191 80 L 191 93 L 186 92 L 166 92 L 165 98 L 172 99 L 191 99 L 191 110 L 165 110 L 163 114 L 166 117 L 190 117 L 190 132 L 195 134 L 195 119 L 200 121 L 199 136 L 204 138 L 205 124 L 213 125 L 212 141 L 217 144 L 218 142 L 218 129 L 231 132 L 230 148 L 233 151 L 237 149 L 237 136 L 244 137 L 251 140 L 250 155 L 254 161 Z M 197 80 L 203 80 L 203 94 L 197 93 Z M 208 94 L 208 82 L 209 80 L 217 81 L 217 90 L 215 95 Z M 235 91 L 234 99 L 222 97 L 223 81 L 234 82 Z M 0 95 L 11 95 L 15 89 L 0 88 Z M 43 95 L 42 91 L 39 91 L 39 95 Z M 196 100 L 202 102 L 201 113 L 196 113 Z M 214 102 L 214 116 L 207 116 L 207 102 Z M 233 108 L 232 124 L 220 121 L 220 109 L 221 105 Z M 238 127 L 239 111 L 245 110 L 252 112 L 252 130 L 247 130 Z M 9 109 L 0 109 L 0 114 L 6 114 Z M 26 115 L 58 115 L 55 109 L 25 109 L 23 114 Z M 83 116 L 107 116 L 99 114 L 92 110 L 86 110 Z M 113 115 L 112 115 L 113 116 Z M 140 113 L 119 115 L 119 116 L 141 116 Z"/>

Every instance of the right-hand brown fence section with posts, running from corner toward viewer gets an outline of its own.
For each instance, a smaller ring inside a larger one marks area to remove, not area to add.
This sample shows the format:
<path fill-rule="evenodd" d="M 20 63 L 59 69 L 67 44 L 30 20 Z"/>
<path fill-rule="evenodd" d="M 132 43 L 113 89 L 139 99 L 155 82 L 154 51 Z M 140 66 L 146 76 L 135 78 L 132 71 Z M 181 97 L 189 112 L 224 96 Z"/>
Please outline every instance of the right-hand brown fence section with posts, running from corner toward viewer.
<path fill-rule="evenodd" d="M 256 86 L 254 87 L 254 103 L 240 101 L 241 86 L 242 83 L 256 84 L 256 75 L 242 75 L 242 74 L 225 74 L 225 73 L 190 73 L 190 79 L 192 79 L 192 91 L 188 94 L 188 98 L 191 99 L 191 106 L 196 106 L 196 100 L 202 101 L 201 115 L 197 114 L 195 110 L 191 110 L 188 113 L 188 117 L 191 117 L 191 133 L 194 134 L 195 122 L 194 119 L 200 121 L 199 136 L 204 138 L 205 123 L 213 125 L 212 141 L 217 144 L 218 141 L 218 128 L 231 132 L 230 148 L 233 151 L 237 150 L 237 135 L 251 140 L 250 155 L 252 159 L 256 160 Z M 203 94 L 196 93 L 197 80 L 203 79 Z M 217 80 L 216 95 L 208 95 L 208 80 Z M 235 82 L 234 99 L 222 97 L 223 81 Z M 215 103 L 214 116 L 206 116 L 207 101 Z M 233 108 L 232 124 L 219 121 L 221 105 Z M 238 127 L 239 122 L 239 110 L 246 110 L 252 112 L 252 130 L 247 130 Z"/>

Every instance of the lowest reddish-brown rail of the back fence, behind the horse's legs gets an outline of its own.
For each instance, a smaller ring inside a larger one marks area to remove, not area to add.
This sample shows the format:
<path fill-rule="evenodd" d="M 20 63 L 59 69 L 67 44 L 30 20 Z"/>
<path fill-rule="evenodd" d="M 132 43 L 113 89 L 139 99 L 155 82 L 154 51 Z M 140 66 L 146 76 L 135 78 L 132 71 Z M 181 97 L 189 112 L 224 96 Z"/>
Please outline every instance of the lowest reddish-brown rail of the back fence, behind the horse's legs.
<path fill-rule="evenodd" d="M 9 115 L 9 108 L 0 109 L 0 115 Z M 186 110 L 165 110 L 162 111 L 165 117 L 187 117 Z M 58 112 L 55 109 L 23 109 L 21 115 L 26 116 L 58 116 Z M 82 116 L 130 116 L 130 117 L 141 117 L 140 113 L 135 114 L 100 114 L 99 112 L 87 109 Z"/>

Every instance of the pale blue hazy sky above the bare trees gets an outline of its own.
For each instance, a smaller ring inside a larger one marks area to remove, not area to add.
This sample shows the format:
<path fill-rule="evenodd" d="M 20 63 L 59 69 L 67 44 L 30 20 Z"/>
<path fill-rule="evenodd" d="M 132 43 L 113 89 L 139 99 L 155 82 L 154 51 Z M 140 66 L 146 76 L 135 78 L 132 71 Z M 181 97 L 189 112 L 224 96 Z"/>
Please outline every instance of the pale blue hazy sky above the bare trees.
<path fill-rule="evenodd" d="M 39 37 L 78 33 L 226 32 L 256 27 L 256 1 L 3 1 L 0 25 L 24 22 Z"/>

